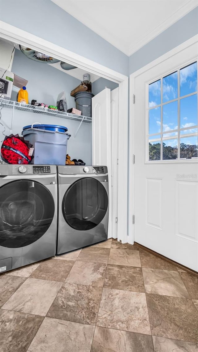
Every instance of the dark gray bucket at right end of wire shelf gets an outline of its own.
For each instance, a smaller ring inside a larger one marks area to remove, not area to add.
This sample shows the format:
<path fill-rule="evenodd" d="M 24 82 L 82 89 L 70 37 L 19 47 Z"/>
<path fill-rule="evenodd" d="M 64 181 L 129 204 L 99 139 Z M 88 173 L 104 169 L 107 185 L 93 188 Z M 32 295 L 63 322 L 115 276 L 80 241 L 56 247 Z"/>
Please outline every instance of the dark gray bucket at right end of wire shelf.
<path fill-rule="evenodd" d="M 92 117 L 92 98 L 90 92 L 79 92 L 75 94 L 76 109 L 82 112 L 83 116 Z"/>

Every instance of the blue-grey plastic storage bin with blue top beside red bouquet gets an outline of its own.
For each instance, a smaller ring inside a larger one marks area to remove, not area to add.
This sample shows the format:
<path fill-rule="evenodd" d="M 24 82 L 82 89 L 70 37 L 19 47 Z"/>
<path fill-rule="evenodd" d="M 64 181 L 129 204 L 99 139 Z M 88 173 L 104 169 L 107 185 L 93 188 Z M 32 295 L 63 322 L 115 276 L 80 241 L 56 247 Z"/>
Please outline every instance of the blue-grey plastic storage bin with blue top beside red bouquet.
<path fill-rule="evenodd" d="M 67 127 L 57 125 L 32 125 L 23 127 L 22 135 L 33 145 L 33 164 L 65 165 Z"/>

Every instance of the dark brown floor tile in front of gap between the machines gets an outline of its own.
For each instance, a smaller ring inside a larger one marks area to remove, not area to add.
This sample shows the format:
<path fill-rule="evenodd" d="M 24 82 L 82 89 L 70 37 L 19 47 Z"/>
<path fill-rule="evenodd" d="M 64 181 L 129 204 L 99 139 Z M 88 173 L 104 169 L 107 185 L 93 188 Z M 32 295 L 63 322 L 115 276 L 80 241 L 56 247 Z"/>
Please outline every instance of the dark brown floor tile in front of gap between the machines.
<path fill-rule="evenodd" d="M 42 262 L 30 277 L 64 282 L 74 263 L 74 260 L 48 259 Z"/>

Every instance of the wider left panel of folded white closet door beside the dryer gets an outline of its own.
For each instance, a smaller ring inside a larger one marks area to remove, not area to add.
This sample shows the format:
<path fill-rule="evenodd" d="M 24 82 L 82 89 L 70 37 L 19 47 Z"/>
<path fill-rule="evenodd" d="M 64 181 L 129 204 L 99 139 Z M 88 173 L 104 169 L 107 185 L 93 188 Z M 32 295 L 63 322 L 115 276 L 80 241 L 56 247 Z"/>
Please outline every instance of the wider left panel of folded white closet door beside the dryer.
<path fill-rule="evenodd" d="M 111 90 L 105 88 L 92 98 L 92 165 L 104 165 L 109 175 L 108 238 L 112 237 L 111 204 Z"/>

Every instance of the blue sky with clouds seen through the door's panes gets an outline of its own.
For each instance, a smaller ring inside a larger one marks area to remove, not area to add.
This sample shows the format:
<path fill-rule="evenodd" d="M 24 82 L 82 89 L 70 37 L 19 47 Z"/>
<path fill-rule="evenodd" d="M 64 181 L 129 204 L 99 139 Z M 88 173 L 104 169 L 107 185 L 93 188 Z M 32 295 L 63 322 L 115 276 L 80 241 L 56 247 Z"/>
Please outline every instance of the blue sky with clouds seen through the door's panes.
<path fill-rule="evenodd" d="M 149 84 L 149 134 L 159 134 L 161 131 L 161 107 L 155 107 L 161 104 L 161 88 L 162 100 L 168 102 L 178 98 L 178 78 L 180 78 L 180 97 L 197 91 L 197 62 L 180 69 L 179 77 L 178 72 L 174 72 L 166 77 Z M 167 103 L 162 107 L 163 116 L 163 132 L 168 132 L 178 128 L 178 101 Z M 197 94 L 182 98 L 180 100 L 180 128 L 193 127 L 197 125 Z M 197 129 L 182 131 L 181 134 L 197 133 Z M 167 137 L 174 137 L 177 133 L 168 133 Z M 164 134 L 165 136 L 165 134 Z M 156 137 L 152 137 L 156 138 Z M 168 145 L 175 145 L 177 139 L 170 140 Z M 197 137 L 189 137 L 185 142 L 189 144 L 197 144 Z M 184 139 L 182 139 L 184 143 Z M 196 142 L 196 143 L 195 143 Z M 176 143 L 177 144 L 177 143 Z"/>

